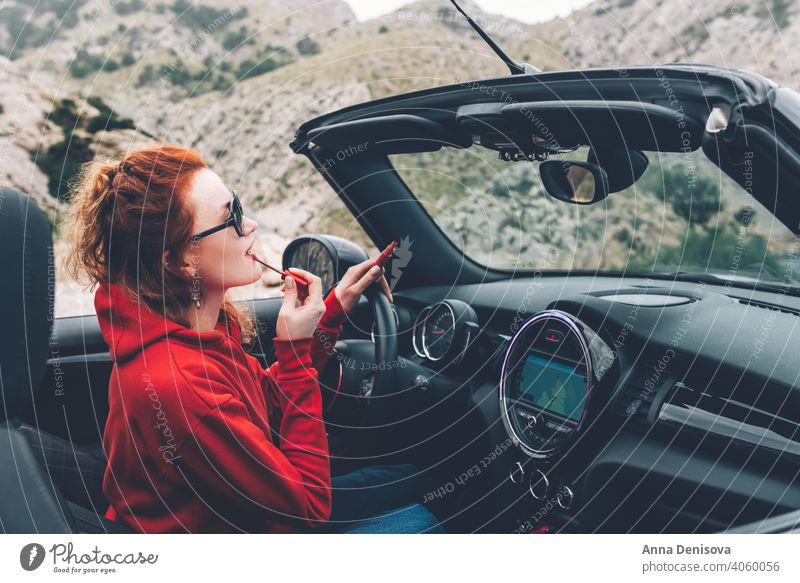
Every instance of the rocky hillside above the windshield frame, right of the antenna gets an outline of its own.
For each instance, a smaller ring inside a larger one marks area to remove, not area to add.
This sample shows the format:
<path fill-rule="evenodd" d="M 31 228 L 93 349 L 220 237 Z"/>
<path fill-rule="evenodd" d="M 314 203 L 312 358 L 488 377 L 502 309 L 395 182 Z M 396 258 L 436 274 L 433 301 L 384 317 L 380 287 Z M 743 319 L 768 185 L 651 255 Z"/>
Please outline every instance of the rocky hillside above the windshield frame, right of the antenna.
<path fill-rule="evenodd" d="M 535 26 L 533 37 L 575 67 L 712 63 L 800 86 L 792 0 L 601 0 Z"/>

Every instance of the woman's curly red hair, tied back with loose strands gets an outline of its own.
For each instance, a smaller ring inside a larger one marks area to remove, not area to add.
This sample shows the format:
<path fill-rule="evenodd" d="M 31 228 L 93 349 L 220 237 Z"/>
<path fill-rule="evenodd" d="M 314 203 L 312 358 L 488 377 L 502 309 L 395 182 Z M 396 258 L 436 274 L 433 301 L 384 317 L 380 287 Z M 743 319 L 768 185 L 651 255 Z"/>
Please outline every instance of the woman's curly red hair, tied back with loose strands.
<path fill-rule="evenodd" d="M 194 214 L 187 198 L 198 170 L 193 149 L 156 144 L 120 160 L 85 164 L 71 188 L 66 218 L 67 272 L 119 285 L 151 310 L 189 327 L 192 279 L 164 253 L 182 257 L 191 242 Z M 220 317 L 238 323 L 242 342 L 255 337 L 249 312 L 225 297 Z"/>

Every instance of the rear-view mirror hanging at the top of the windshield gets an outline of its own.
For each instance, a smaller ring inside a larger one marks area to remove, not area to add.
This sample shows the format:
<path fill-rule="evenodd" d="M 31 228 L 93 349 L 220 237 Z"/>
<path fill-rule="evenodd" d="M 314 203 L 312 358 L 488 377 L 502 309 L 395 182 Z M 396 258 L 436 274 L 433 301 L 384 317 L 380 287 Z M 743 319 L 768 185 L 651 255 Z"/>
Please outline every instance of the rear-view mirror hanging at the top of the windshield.
<path fill-rule="evenodd" d="M 597 164 L 548 160 L 539 164 L 547 193 L 571 204 L 593 204 L 608 196 L 608 174 Z"/>

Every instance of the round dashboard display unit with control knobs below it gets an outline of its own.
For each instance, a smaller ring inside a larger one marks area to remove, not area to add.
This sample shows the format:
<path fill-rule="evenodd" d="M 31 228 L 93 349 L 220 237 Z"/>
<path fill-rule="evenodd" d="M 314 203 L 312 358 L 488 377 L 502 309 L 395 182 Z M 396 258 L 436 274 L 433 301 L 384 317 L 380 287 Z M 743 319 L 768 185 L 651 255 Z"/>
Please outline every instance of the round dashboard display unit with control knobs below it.
<path fill-rule="evenodd" d="M 568 522 L 579 503 L 570 457 L 580 457 L 576 450 L 597 408 L 593 391 L 614 359 L 591 328 L 557 310 L 534 315 L 510 340 L 498 396 L 505 430 L 516 446 L 508 482 L 520 531 Z"/>

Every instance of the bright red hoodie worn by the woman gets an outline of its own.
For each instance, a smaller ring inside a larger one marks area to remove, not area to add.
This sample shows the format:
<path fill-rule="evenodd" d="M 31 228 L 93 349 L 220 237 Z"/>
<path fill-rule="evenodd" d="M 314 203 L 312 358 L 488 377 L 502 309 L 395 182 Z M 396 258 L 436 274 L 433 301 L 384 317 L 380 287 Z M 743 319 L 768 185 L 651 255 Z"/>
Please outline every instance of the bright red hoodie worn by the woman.
<path fill-rule="evenodd" d="M 277 361 L 265 370 L 235 322 L 197 332 L 101 284 L 95 308 L 114 361 L 106 517 L 148 533 L 291 532 L 327 520 L 317 371 L 346 315 L 333 291 L 325 305 L 313 336 L 273 338 Z"/>

